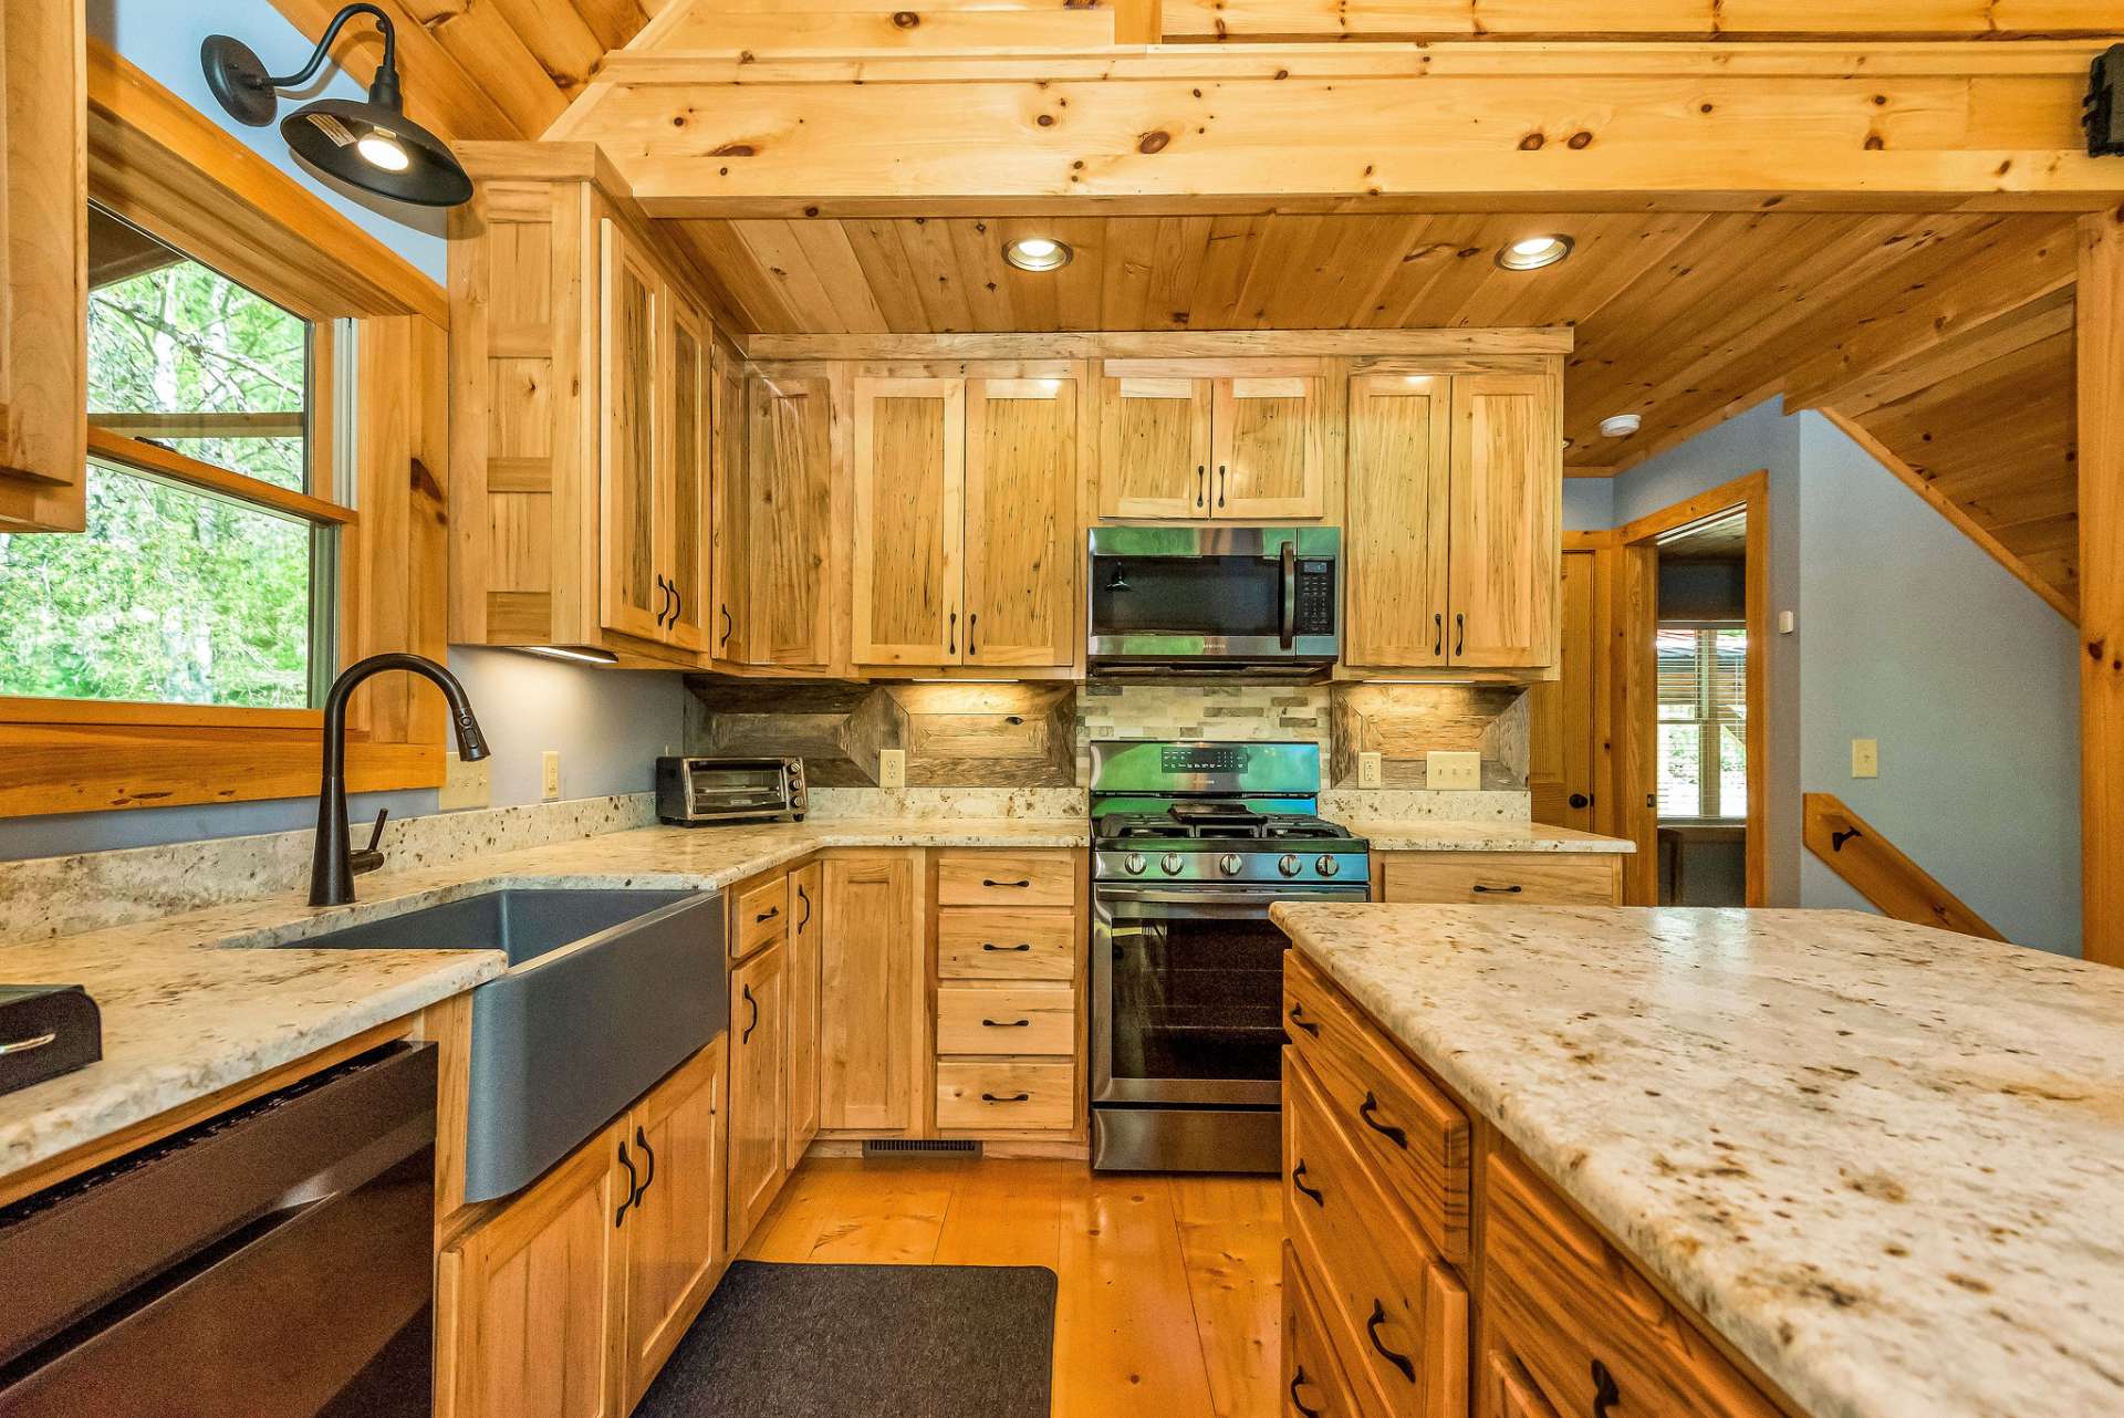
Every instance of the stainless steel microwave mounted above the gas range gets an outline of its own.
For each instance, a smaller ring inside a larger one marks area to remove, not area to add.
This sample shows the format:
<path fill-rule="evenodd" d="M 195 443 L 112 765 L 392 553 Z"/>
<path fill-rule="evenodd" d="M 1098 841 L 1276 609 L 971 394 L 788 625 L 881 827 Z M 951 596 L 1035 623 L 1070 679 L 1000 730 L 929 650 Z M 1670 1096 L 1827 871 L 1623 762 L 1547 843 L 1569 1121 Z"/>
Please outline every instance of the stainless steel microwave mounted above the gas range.
<path fill-rule="evenodd" d="M 1342 650 L 1336 526 L 1094 526 L 1085 596 L 1096 675 L 1289 675 Z"/>

